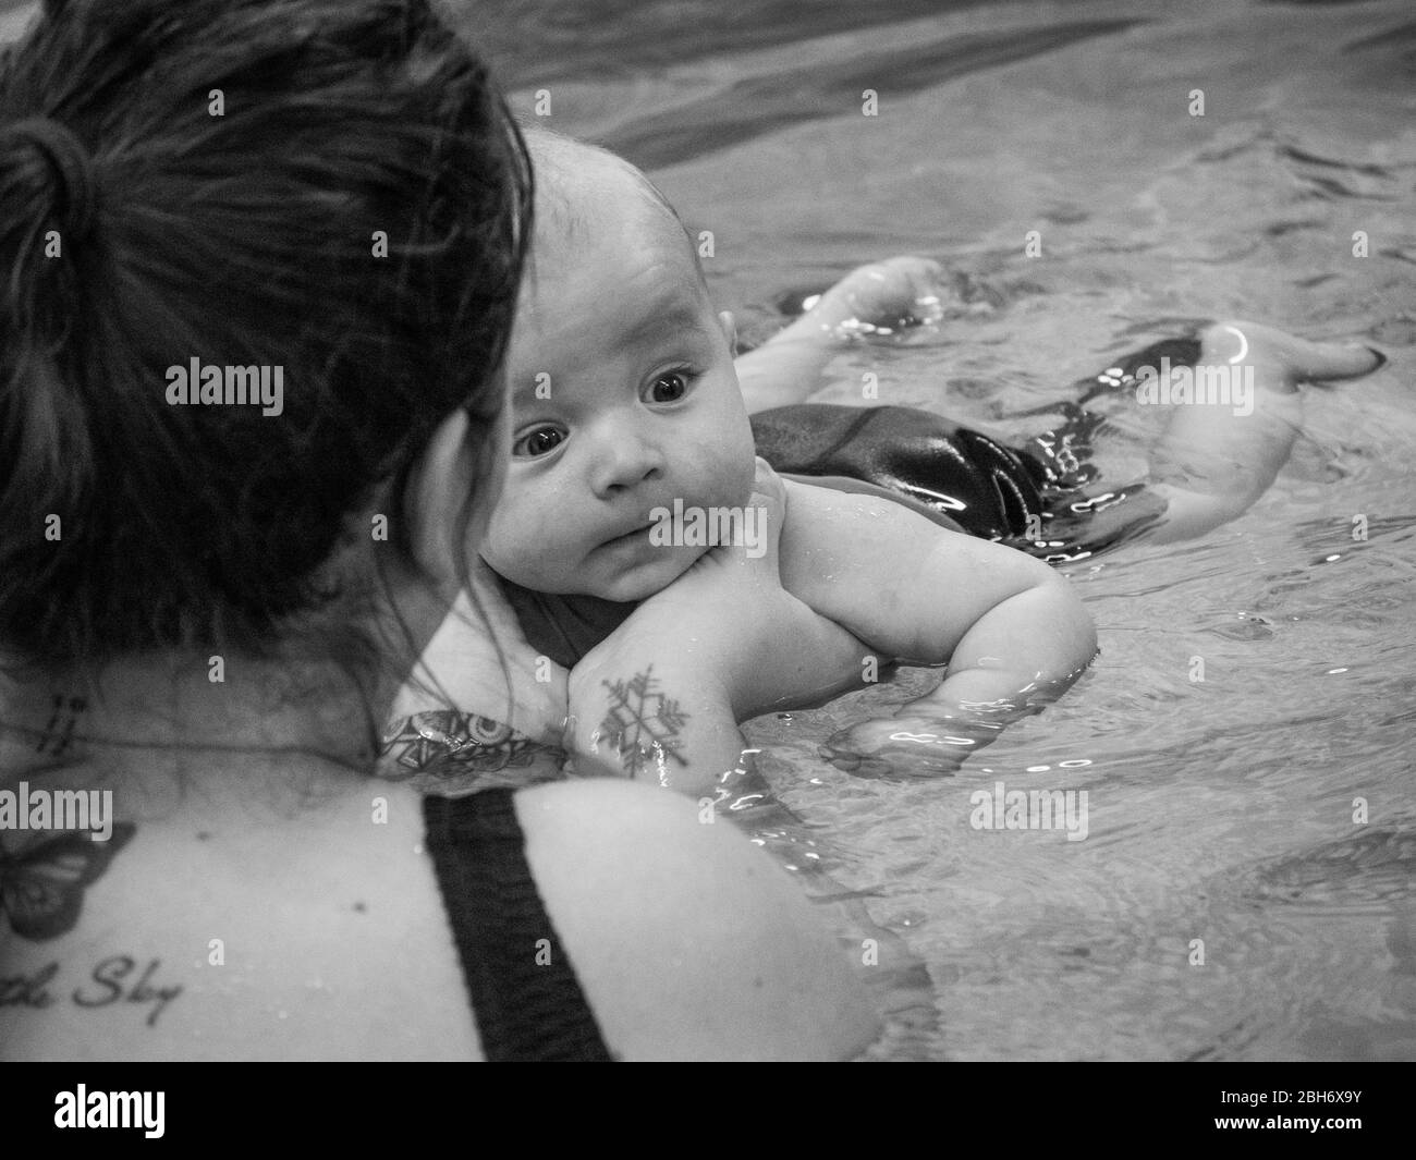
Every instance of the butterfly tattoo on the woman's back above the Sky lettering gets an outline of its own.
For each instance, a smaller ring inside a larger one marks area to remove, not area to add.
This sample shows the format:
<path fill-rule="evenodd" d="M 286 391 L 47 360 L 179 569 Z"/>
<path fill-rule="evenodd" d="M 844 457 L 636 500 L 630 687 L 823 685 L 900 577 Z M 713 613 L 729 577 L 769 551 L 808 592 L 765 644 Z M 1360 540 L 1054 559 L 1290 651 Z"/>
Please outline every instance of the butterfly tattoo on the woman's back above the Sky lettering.
<path fill-rule="evenodd" d="M 59 834 L 23 854 L 0 846 L 0 911 L 10 929 L 34 942 L 72 931 L 84 909 L 84 888 L 103 875 L 135 833 L 130 821 L 118 821 L 108 841 L 78 833 Z"/>

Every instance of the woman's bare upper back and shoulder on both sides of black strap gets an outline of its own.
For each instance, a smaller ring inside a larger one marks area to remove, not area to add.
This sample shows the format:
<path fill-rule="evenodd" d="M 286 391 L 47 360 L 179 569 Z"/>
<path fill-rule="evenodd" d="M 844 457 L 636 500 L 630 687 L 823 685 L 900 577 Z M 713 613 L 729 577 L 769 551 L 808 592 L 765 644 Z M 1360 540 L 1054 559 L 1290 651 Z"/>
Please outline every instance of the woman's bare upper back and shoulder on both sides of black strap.
<path fill-rule="evenodd" d="M 874 1033 L 796 884 L 694 803 L 626 782 L 515 795 L 524 885 L 548 919 L 523 922 L 523 945 L 491 945 L 507 928 L 453 929 L 422 799 L 290 755 L 280 718 L 253 754 L 225 748 L 219 722 L 205 755 L 135 745 L 120 710 L 86 711 L 61 763 L 6 732 L 0 789 L 31 803 L 110 792 L 120 820 L 76 853 L 50 834 L 0 838 L 7 906 L 27 888 L 48 891 L 51 911 L 79 902 L 47 938 L 8 915 L 4 1058 L 481 1058 L 459 933 L 474 963 L 524 956 L 547 974 L 554 943 L 619 1058 L 843 1058 Z M 123 744 L 89 745 L 89 729 Z M 554 999 L 551 1023 L 585 1017 L 573 987 Z"/>

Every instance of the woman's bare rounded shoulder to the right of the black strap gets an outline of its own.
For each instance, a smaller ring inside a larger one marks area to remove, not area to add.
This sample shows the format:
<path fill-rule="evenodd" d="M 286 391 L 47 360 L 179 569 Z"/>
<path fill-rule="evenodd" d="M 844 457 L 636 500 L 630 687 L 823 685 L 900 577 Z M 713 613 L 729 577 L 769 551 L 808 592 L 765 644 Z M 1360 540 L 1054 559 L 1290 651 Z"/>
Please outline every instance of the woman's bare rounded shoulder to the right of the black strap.
<path fill-rule="evenodd" d="M 841 1059 L 878 1025 L 801 889 L 733 824 L 620 780 L 515 796 L 527 861 L 626 1059 Z"/>

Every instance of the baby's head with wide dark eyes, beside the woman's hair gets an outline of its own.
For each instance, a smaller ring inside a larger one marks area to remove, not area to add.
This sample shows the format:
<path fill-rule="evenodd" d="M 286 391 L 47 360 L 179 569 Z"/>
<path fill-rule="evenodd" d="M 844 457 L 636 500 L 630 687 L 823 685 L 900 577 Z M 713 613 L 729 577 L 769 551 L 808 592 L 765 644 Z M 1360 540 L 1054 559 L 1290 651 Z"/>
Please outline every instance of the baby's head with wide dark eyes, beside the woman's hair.
<path fill-rule="evenodd" d="M 639 170 L 544 132 L 527 143 L 535 241 L 507 357 L 511 466 L 481 555 L 538 592 L 640 601 L 707 551 L 653 544 L 654 508 L 752 493 L 732 317 L 714 313 L 683 224 Z"/>

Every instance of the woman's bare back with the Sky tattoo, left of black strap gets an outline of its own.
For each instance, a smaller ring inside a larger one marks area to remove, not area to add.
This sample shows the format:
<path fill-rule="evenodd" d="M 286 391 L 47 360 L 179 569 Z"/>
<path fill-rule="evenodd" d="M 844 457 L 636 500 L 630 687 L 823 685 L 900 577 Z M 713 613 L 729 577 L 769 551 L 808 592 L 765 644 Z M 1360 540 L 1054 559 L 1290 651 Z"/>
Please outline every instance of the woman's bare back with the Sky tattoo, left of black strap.
<path fill-rule="evenodd" d="M 24 996 L 0 1004 L 0 1058 L 476 1058 L 419 796 L 310 763 L 282 771 L 313 787 L 292 807 L 221 772 L 144 799 L 82 865 L 11 853 L 14 885 L 67 909 L 0 936 Z"/>

